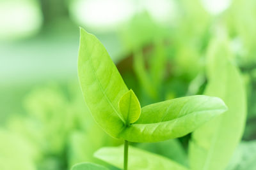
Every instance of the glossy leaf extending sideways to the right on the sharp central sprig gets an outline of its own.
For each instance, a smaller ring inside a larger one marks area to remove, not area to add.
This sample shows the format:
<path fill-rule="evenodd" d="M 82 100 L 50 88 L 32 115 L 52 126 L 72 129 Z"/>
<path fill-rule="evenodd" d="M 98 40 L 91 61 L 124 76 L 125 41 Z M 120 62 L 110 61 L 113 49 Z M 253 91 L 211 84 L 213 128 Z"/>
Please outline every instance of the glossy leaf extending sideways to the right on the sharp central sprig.
<path fill-rule="evenodd" d="M 138 121 L 124 129 L 120 137 L 132 142 L 179 138 L 226 110 L 220 98 L 209 96 L 180 97 L 150 104 L 141 109 Z"/>

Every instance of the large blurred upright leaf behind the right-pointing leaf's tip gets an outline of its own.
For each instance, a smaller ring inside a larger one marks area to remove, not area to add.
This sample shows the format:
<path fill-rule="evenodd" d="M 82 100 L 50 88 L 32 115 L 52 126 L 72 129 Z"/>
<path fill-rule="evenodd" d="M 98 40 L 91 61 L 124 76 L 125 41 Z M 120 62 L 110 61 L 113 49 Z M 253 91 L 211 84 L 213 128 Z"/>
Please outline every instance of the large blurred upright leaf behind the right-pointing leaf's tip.
<path fill-rule="evenodd" d="M 205 94 L 223 99 L 228 111 L 193 132 L 189 159 L 192 169 L 221 170 L 243 134 L 246 96 L 239 71 L 230 61 L 227 41 L 213 41 L 207 59 L 209 84 Z"/>

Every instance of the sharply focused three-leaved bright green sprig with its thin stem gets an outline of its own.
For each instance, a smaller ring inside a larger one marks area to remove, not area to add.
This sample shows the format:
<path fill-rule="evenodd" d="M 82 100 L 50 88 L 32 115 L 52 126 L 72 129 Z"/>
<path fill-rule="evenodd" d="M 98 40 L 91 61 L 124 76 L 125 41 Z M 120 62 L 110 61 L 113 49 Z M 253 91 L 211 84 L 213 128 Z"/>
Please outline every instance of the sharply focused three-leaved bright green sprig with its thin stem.
<path fill-rule="evenodd" d="M 108 52 L 81 29 L 78 74 L 86 104 L 95 121 L 113 138 L 124 139 L 124 169 L 128 143 L 179 138 L 227 110 L 218 97 L 188 96 L 140 108 Z"/>

